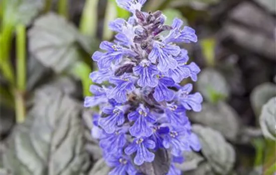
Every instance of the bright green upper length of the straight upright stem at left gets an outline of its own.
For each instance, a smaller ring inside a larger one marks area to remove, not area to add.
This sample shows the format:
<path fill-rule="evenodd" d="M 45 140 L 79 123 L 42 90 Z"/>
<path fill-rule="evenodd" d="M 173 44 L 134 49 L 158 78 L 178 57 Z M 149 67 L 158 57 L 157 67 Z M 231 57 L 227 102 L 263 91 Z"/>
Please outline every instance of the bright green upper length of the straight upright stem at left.
<path fill-rule="evenodd" d="M 26 27 L 19 24 L 16 27 L 16 54 L 17 54 L 17 88 L 20 91 L 26 89 Z"/>

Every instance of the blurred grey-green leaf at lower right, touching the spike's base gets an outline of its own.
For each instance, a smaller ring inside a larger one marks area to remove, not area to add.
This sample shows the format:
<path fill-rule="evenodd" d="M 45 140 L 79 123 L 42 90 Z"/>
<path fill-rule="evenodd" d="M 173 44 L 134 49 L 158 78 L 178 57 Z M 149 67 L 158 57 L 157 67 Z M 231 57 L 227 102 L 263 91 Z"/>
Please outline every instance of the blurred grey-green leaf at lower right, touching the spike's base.
<path fill-rule="evenodd" d="M 235 151 L 220 132 L 198 124 L 192 130 L 199 136 L 201 151 L 212 169 L 218 174 L 228 174 L 235 162 Z"/>

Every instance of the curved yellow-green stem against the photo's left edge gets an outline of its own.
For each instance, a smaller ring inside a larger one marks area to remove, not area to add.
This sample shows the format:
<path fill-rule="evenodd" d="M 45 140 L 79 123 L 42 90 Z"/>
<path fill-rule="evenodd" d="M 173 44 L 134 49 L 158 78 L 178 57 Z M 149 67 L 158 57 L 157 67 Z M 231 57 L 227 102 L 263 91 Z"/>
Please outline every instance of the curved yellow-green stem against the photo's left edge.
<path fill-rule="evenodd" d="M 15 74 L 11 62 L 11 45 L 14 26 L 7 24 L 0 35 L 0 69 L 3 76 L 11 83 L 15 84 Z"/>

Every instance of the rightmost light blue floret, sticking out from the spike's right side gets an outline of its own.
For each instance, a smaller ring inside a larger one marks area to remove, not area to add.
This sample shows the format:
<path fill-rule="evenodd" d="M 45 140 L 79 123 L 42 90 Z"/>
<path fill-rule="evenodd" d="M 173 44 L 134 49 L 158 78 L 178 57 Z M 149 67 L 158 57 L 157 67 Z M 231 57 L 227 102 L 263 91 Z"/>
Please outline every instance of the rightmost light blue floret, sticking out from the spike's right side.
<path fill-rule="evenodd" d="M 187 110 L 194 110 L 196 112 L 201 111 L 201 103 L 203 101 L 202 95 L 199 92 L 194 94 L 189 94 L 193 89 L 193 85 L 188 83 L 180 88 L 177 92 L 177 100 L 181 103 Z"/>

